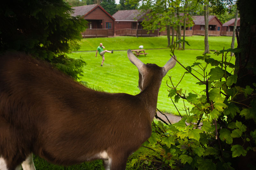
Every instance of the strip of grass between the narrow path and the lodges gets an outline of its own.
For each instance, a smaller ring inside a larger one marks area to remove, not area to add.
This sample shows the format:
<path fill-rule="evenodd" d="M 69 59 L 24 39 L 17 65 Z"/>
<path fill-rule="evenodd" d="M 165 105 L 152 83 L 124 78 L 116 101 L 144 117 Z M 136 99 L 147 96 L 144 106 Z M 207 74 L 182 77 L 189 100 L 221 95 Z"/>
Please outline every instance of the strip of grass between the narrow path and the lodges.
<path fill-rule="evenodd" d="M 175 37 L 176 40 L 176 37 Z M 204 50 L 204 36 L 194 35 L 185 38 L 191 46 L 186 45 L 186 49 Z M 210 36 L 209 46 L 210 50 L 222 50 L 230 48 L 232 37 L 229 36 Z M 100 43 L 107 50 L 127 50 L 138 49 L 140 45 L 144 49 L 159 49 L 167 48 L 167 36 L 159 37 L 131 37 L 131 36 L 117 36 L 106 38 L 84 38 L 79 43 L 81 48 L 79 51 L 96 51 Z M 235 47 L 237 43 L 235 42 Z"/>

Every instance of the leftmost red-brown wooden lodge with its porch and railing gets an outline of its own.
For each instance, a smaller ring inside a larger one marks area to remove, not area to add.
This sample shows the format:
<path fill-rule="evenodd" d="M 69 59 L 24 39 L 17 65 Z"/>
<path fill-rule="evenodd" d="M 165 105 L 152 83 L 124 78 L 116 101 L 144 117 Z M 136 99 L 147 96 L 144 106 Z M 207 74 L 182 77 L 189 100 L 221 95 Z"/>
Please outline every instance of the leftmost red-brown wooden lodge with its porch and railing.
<path fill-rule="evenodd" d="M 114 35 L 115 19 L 99 4 L 76 6 L 72 9 L 72 16 L 80 15 L 88 21 L 88 28 L 82 33 L 84 38 Z"/>

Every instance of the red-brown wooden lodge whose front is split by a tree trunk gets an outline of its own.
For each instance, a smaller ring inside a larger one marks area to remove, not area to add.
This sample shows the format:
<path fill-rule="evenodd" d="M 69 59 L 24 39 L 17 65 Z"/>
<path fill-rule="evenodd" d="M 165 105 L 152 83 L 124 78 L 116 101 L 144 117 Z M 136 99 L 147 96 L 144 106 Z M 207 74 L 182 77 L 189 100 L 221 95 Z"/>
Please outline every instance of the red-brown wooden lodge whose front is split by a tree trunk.
<path fill-rule="evenodd" d="M 209 26 L 208 35 L 209 36 L 220 36 L 222 23 L 215 15 L 209 15 Z M 193 26 L 193 35 L 204 35 L 204 16 L 193 16 L 193 21 L 195 25 Z"/>

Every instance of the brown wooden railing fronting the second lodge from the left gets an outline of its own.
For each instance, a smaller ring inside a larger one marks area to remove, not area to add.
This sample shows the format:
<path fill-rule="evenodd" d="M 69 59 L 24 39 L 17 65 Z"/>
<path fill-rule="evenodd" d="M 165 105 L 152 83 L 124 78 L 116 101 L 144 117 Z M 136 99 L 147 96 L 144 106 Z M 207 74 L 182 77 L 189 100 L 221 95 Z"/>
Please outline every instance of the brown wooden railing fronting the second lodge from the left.
<path fill-rule="evenodd" d="M 129 28 L 124 28 L 124 29 L 118 29 L 116 30 L 116 35 L 120 36 L 139 36 L 139 37 L 145 37 L 145 36 L 157 36 L 158 31 L 155 30 L 154 32 L 152 30 L 148 31 L 145 29 L 129 29 Z"/>

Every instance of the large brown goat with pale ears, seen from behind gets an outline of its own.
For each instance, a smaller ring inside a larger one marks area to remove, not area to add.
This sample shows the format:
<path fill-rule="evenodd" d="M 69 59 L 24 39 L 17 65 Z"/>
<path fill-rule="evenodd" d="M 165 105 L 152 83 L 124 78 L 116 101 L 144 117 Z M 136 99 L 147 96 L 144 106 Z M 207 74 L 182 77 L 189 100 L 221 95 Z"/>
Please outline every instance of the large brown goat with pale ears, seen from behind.
<path fill-rule="evenodd" d="M 89 89 L 44 61 L 21 53 L 0 57 L 0 169 L 35 170 L 32 153 L 58 165 L 102 159 L 124 170 L 127 158 L 151 135 L 162 78 L 175 66 L 143 64 L 140 93 Z"/>

